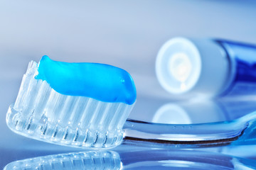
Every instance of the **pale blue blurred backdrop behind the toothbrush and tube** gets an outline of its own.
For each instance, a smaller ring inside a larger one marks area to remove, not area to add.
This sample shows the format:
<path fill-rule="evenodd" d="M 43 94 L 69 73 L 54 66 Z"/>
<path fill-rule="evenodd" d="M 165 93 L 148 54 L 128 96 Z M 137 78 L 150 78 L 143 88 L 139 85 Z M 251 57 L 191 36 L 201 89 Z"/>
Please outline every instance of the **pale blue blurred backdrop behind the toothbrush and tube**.
<path fill-rule="evenodd" d="M 126 69 L 137 86 L 137 105 L 129 118 L 149 121 L 173 101 L 159 85 L 154 68 L 166 40 L 188 36 L 256 44 L 255 16 L 256 1 L 242 0 L 1 0 L 0 166 L 63 151 L 16 135 L 6 126 L 6 111 L 16 99 L 29 61 L 48 55 L 63 62 L 100 62 Z"/>

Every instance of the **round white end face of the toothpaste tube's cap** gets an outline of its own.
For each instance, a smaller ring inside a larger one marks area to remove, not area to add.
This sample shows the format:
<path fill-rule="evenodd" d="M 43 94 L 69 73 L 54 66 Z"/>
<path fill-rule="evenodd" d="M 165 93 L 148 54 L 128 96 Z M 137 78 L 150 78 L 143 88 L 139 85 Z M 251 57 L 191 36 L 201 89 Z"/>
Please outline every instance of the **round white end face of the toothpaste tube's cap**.
<path fill-rule="evenodd" d="M 183 39 L 176 40 L 177 42 L 166 42 L 161 47 L 156 59 L 156 75 L 164 89 L 172 94 L 183 94 L 196 84 L 201 72 L 201 60 L 198 50 L 193 48 L 191 42 L 185 41 L 186 45 L 192 46 L 191 50 L 185 48 L 182 51 L 177 49 L 178 45 L 183 43 Z M 191 56 L 194 58 L 191 59 Z"/>

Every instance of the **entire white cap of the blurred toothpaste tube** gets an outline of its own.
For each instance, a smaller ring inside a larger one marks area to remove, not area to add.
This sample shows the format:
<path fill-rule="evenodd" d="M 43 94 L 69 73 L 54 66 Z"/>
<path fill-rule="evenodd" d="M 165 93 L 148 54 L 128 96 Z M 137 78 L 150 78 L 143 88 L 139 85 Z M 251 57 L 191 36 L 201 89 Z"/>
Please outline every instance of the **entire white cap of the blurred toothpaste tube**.
<path fill-rule="evenodd" d="M 230 62 L 210 39 L 173 38 L 156 57 L 156 77 L 171 94 L 217 96 L 227 88 Z"/>

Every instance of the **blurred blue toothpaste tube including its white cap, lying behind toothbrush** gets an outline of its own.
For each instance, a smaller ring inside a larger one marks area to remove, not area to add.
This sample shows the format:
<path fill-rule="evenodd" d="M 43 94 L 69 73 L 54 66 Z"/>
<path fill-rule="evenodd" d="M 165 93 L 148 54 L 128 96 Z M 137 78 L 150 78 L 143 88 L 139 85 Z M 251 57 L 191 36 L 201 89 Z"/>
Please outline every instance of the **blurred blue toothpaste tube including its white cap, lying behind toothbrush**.
<path fill-rule="evenodd" d="M 256 46 L 216 39 L 173 38 L 156 57 L 161 86 L 176 97 L 256 93 Z"/>

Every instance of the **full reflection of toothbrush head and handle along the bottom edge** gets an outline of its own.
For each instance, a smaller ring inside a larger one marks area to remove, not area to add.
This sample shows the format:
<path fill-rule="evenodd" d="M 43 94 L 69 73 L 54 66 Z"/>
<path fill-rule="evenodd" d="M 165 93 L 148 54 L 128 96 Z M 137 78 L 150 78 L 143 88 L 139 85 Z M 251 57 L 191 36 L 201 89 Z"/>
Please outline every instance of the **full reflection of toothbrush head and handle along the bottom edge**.
<path fill-rule="evenodd" d="M 88 151 L 24 159 L 4 169 L 256 169 L 256 161 L 193 150 Z"/>

